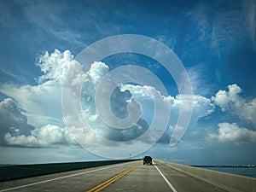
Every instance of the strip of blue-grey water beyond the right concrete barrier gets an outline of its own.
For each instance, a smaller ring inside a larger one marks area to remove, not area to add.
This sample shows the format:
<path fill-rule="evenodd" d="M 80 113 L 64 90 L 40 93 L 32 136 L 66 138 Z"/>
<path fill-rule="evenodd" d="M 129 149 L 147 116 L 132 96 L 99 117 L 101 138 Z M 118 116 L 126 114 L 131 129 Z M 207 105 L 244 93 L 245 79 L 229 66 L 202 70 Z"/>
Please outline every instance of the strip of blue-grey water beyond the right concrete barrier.
<path fill-rule="evenodd" d="M 256 177 L 256 167 L 202 167 L 218 172 L 228 172 L 246 177 Z"/>

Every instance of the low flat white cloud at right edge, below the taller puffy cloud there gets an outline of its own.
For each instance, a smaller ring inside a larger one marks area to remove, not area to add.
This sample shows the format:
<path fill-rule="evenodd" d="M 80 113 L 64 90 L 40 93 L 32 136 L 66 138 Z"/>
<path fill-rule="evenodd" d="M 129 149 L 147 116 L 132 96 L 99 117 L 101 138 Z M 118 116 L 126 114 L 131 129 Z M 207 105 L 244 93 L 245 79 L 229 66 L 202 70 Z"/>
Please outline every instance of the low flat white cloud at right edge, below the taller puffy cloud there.
<path fill-rule="evenodd" d="M 209 134 L 211 139 L 217 139 L 219 142 L 255 143 L 256 131 L 239 127 L 236 123 L 220 123 L 218 124 L 218 134 Z"/>

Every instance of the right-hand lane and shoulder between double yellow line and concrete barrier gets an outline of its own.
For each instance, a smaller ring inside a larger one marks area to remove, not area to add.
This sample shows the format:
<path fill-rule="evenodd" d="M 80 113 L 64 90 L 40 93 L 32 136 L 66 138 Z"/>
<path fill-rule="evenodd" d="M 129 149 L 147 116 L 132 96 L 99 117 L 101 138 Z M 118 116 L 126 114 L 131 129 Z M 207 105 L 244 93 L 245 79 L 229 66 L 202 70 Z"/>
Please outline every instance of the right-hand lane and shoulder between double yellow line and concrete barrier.
<path fill-rule="evenodd" d="M 195 177 L 182 172 L 177 172 L 170 166 L 158 160 L 154 160 L 164 177 L 155 166 L 140 166 L 133 172 L 119 178 L 103 191 L 173 191 L 173 192 L 224 192 L 212 184 L 205 183 Z"/>

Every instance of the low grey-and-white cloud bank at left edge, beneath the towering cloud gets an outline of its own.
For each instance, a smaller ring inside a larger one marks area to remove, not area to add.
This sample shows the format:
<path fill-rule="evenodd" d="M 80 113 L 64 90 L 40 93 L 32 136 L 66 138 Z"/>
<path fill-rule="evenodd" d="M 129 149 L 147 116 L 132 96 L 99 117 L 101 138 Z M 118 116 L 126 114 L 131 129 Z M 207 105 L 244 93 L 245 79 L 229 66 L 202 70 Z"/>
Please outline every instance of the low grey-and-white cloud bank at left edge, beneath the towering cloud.
<path fill-rule="evenodd" d="M 45 147 L 51 144 L 73 143 L 67 129 L 57 125 L 35 128 L 27 123 L 24 113 L 13 99 L 0 102 L 0 144 L 22 147 Z"/>

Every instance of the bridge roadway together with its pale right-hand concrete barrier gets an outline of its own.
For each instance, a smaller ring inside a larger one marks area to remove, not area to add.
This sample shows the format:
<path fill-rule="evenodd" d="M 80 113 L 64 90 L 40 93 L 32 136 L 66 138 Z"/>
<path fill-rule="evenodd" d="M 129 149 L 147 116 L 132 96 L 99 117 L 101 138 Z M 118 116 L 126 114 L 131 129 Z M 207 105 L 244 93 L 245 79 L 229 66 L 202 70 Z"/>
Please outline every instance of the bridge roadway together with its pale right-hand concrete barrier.
<path fill-rule="evenodd" d="M 256 178 L 154 160 L 96 166 L 0 183 L 0 191 L 256 192 Z"/>

